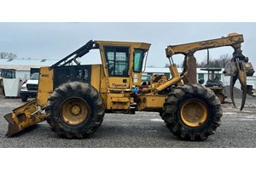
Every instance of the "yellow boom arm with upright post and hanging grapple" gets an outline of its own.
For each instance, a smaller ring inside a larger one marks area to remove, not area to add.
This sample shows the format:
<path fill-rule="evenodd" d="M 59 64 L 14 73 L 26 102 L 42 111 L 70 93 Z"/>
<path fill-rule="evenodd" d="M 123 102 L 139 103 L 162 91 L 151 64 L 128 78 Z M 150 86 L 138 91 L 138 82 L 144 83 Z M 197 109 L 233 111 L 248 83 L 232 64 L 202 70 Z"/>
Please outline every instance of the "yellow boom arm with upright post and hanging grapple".
<path fill-rule="evenodd" d="M 242 99 L 241 109 L 243 108 L 246 100 L 246 89 L 247 81 L 246 76 L 253 75 L 253 65 L 248 63 L 248 58 L 245 57 L 241 52 L 241 42 L 243 42 L 243 36 L 237 33 L 231 33 L 228 37 L 221 37 L 217 39 L 191 42 L 175 46 L 168 46 L 166 48 L 166 57 L 172 58 L 174 54 L 185 55 L 183 62 L 183 73 L 181 75 L 188 75 L 185 77 L 184 82 L 196 82 L 196 59 L 194 54 L 196 51 L 219 48 L 224 46 L 230 46 L 234 48 L 233 57 L 227 65 L 225 65 L 225 76 L 230 76 L 230 97 L 233 105 L 236 107 L 234 102 L 233 88 L 237 79 L 241 83 Z M 247 70 L 246 70 L 247 69 Z"/>

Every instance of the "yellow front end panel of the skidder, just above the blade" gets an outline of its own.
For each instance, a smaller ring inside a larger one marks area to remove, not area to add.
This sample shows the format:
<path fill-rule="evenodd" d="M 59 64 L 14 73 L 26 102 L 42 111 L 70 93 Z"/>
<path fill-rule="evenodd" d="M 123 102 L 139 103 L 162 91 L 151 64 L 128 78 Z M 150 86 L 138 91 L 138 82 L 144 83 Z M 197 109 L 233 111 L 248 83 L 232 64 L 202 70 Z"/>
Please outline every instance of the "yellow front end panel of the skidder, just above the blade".
<path fill-rule="evenodd" d="M 46 105 L 49 95 L 53 92 L 53 79 L 53 70 L 49 71 L 48 67 L 40 68 L 37 97 L 38 105 Z"/>

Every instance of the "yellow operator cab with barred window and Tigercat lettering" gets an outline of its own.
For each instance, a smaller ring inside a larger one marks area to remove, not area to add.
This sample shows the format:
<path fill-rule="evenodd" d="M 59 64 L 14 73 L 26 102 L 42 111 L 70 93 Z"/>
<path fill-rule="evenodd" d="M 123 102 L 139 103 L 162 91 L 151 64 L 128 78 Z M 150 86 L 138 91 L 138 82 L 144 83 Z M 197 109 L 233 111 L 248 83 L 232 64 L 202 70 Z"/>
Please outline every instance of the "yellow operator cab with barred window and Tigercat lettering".
<path fill-rule="evenodd" d="M 95 41 L 100 48 L 103 71 L 110 90 L 131 90 L 142 83 L 143 60 L 149 43 Z"/>

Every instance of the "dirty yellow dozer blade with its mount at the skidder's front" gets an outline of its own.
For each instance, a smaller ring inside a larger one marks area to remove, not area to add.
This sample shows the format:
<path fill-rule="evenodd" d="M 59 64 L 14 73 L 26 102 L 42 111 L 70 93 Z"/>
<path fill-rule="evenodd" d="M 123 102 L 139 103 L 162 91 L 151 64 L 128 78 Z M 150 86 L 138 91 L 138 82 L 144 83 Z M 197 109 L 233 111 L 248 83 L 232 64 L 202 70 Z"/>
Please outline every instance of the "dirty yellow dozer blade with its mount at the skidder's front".
<path fill-rule="evenodd" d="M 12 113 L 5 115 L 5 120 L 9 122 L 8 132 L 5 136 L 12 136 L 26 127 L 43 122 L 46 119 L 46 115 L 41 113 L 42 111 L 44 111 L 44 107 L 39 107 L 37 100 L 34 99 L 16 108 Z"/>

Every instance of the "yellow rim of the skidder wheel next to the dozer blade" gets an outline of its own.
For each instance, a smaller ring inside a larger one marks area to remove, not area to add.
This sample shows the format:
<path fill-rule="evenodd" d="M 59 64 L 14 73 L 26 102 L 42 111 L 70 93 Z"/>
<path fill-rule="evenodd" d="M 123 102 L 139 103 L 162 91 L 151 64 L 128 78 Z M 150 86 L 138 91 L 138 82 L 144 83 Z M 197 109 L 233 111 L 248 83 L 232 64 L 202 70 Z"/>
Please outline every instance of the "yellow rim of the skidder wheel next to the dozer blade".
<path fill-rule="evenodd" d="M 84 99 L 67 99 L 61 105 L 61 119 L 68 125 L 77 126 L 84 122 L 89 115 L 89 107 Z"/>

